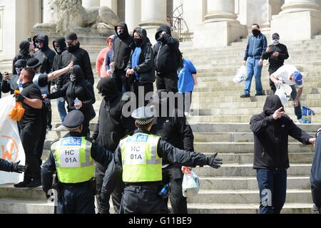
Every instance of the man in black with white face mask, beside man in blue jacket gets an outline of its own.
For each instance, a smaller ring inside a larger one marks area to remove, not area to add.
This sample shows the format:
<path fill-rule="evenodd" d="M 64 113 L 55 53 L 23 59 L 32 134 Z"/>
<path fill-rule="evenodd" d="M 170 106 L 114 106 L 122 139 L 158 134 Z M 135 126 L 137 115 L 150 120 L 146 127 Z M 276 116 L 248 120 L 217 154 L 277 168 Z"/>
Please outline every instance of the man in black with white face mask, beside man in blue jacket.
<path fill-rule="evenodd" d="M 289 58 L 289 54 L 287 53 L 287 46 L 280 43 L 280 36 L 277 33 L 272 35 L 272 44 L 266 48 L 265 53 L 263 54 L 263 59 L 268 59 L 269 73 L 275 73 L 278 68 L 283 66 L 285 59 Z M 270 79 L 270 87 L 273 93 L 275 93 L 276 88 L 275 84 Z"/>

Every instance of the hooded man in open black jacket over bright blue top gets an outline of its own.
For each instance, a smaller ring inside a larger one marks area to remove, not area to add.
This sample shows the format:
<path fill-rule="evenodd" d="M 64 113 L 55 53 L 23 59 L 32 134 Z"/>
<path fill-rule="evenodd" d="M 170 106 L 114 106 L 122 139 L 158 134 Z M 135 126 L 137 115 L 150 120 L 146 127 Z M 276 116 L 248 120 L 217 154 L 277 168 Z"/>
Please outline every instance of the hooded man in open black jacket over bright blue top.
<path fill-rule="evenodd" d="M 126 77 L 130 78 L 131 92 L 136 95 L 137 107 L 145 106 L 149 99 L 145 96 L 153 92 L 155 81 L 154 53 L 147 32 L 143 28 L 133 31 L 133 41 L 136 48 L 131 53 L 131 58 L 126 68 Z M 143 97 L 138 97 L 138 88 L 143 89 Z"/>

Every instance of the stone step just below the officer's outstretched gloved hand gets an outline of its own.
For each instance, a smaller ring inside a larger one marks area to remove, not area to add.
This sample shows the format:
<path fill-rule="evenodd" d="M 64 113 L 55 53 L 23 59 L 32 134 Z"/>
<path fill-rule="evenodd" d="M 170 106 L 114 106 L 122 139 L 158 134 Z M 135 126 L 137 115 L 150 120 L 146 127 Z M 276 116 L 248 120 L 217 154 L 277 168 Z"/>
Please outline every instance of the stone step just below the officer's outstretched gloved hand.
<path fill-rule="evenodd" d="M 253 164 L 245 165 L 222 165 L 218 170 L 204 166 L 195 167 L 195 172 L 199 177 L 256 177 Z M 311 165 L 292 164 L 287 170 L 288 177 L 307 177 L 310 176 Z"/>

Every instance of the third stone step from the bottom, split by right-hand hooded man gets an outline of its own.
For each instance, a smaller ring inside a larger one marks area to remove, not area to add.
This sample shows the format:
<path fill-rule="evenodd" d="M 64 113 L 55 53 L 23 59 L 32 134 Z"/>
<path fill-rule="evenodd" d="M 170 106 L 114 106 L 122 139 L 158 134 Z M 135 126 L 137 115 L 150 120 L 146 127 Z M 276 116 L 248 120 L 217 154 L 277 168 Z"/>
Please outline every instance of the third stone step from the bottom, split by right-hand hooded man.
<path fill-rule="evenodd" d="M 199 177 L 201 190 L 258 190 L 256 177 Z M 287 190 L 311 190 L 310 177 L 287 177 Z"/>

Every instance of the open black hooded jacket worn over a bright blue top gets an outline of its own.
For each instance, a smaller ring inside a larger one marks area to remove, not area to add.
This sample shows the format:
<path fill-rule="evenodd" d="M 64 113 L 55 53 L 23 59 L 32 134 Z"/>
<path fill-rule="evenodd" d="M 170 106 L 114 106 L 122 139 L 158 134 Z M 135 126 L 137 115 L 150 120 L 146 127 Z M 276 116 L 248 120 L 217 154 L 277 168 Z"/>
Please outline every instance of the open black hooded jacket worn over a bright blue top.
<path fill-rule="evenodd" d="M 139 56 L 138 66 L 133 68 L 139 74 L 141 83 L 153 83 L 155 81 L 154 51 L 147 37 L 147 32 L 143 28 L 136 28 L 133 33 L 139 33 L 143 40 L 141 44 L 141 56 Z M 133 52 L 131 53 L 131 57 Z M 131 68 L 131 58 L 129 58 L 127 68 Z"/>

